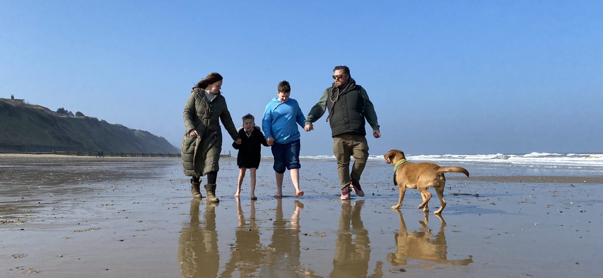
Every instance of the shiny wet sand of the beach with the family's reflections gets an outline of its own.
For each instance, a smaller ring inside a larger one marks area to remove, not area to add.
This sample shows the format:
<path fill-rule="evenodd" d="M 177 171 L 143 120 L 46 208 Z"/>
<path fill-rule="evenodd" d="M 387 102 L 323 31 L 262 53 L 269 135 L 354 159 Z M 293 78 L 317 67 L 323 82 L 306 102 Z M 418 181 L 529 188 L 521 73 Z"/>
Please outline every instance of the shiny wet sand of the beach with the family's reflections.
<path fill-rule="evenodd" d="M 391 165 L 339 200 L 335 162 L 302 162 L 305 196 L 256 196 L 221 160 L 215 205 L 193 200 L 177 158 L 0 156 L 0 277 L 598 277 L 601 178 L 447 173 L 438 217 L 402 208 Z M 500 171 L 504 173 L 504 170 Z M 567 181 L 566 181 L 567 180 Z M 576 182 L 577 181 L 577 182 Z M 587 181 L 587 182 L 582 182 Z M 433 191 L 432 191 L 433 193 Z M 373 195 L 374 194 L 374 195 Z M 476 197 L 478 196 L 478 197 Z M 432 198 L 431 211 L 440 205 Z"/>

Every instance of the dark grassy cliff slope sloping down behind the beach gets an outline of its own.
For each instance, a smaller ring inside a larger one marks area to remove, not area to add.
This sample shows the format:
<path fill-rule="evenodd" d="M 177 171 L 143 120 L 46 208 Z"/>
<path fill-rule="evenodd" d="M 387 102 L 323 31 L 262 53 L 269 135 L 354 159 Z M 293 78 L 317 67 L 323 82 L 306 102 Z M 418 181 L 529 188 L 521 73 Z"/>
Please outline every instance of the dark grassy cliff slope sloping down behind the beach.
<path fill-rule="evenodd" d="M 27 141 L 65 149 L 178 153 L 163 137 L 93 117 L 64 117 L 0 100 L 0 143 Z"/>

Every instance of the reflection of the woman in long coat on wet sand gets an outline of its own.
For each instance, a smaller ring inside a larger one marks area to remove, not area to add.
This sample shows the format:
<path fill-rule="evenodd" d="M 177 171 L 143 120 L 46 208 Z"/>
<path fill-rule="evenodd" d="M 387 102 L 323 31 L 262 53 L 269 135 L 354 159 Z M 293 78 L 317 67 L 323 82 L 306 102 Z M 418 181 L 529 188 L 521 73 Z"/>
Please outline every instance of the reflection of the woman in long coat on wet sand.
<path fill-rule="evenodd" d="M 182 277 L 209 278 L 218 276 L 220 255 L 216 231 L 216 203 L 204 202 L 203 221 L 199 219 L 200 200 L 191 201 L 191 223 L 182 227 L 178 240 L 178 261 Z"/>

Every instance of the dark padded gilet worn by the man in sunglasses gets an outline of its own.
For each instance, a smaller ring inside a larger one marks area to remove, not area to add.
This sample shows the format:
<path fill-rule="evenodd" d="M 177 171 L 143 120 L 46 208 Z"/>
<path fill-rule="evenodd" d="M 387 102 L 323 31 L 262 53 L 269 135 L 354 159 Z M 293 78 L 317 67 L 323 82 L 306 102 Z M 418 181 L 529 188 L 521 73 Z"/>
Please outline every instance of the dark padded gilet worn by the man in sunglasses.
<path fill-rule="evenodd" d="M 332 136 L 343 133 L 367 135 L 364 128 L 364 97 L 362 97 L 360 85 L 350 84 L 347 90 L 339 93 L 339 97 L 337 97 L 339 91 L 336 88 L 329 87 L 327 92 L 329 92 L 327 108 L 330 114 L 329 123 Z M 333 105 L 333 101 L 335 101 L 335 105 Z"/>

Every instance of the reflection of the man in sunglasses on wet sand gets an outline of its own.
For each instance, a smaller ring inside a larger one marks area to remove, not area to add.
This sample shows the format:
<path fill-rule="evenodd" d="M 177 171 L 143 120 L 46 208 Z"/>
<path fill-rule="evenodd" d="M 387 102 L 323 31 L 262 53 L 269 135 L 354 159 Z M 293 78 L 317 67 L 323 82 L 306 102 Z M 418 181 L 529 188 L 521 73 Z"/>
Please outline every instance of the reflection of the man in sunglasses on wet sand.
<path fill-rule="evenodd" d="M 329 277 L 376 278 L 383 276 L 382 262 L 377 262 L 374 274 L 367 276 L 371 249 L 368 230 L 364 228 L 360 218 L 362 205 L 364 205 L 364 200 L 358 200 L 354 205 L 348 200 L 341 201 L 333 271 Z"/>

